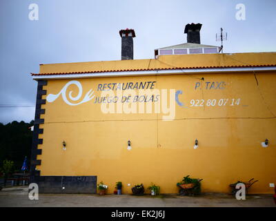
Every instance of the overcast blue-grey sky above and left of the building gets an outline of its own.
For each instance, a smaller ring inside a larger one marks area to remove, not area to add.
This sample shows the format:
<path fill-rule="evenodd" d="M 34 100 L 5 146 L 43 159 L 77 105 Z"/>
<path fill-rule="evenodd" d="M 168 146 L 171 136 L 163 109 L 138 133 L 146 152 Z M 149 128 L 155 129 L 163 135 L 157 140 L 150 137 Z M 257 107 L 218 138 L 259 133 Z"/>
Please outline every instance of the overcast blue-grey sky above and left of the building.
<path fill-rule="evenodd" d="M 31 3 L 39 20 L 28 17 Z M 245 20 L 235 17 L 238 3 Z M 222 27 L 224 52 L 275 52 L 275 15 L 275 0 L 1 0 L 0 122 L 34 119 L 37 82 L 30 73 L 39 64 L 121 59 L 121 29 L 135 29 L 135 59 L 186 43 L 184 26 L 192 22 L 203 24 L 201 44 L 220 46 L 215 34 Z"/>

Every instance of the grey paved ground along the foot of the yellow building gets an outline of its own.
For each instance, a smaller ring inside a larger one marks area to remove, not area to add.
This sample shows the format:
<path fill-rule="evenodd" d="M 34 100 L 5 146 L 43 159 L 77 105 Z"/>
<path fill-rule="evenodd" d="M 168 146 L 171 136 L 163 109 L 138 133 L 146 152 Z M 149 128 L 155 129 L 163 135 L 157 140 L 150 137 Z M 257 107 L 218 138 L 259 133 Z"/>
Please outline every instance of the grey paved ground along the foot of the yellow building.
<path fill-rule="evenodd" d="M 39 194 L 39 200 L 29 200 L 28 188 L 17 186 L 0 191 L 0 206 L 91 206 L 91 207 L 206 207 L 239 206 L 276 207 L 273 195 L 247 195 L 236 200 L 227 194 L 203 194 L 197 197 L 179 195 L 97 195 L 97 194 Z"/>

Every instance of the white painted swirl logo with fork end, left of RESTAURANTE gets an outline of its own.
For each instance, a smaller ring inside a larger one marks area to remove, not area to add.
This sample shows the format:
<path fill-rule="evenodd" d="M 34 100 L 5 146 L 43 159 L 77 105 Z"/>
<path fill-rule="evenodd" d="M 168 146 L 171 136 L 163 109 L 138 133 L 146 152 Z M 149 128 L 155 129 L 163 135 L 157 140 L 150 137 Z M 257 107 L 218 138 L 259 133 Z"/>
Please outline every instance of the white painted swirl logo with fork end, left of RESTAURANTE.
<path fill-rule="evenodd" d="M 69 92 L 70 100 L 72 100 L 74 102 L 77 102 L 81 98 L 81 95 L 82 95 L 82 86 L 81 86 L 81 83 L 79 83 L 79 81 L 69 81 L 65 86 L 63 86 L 63 88 L 61 89 L 61 91 L 57 95 L 49 94 L 46 97 L 47 102 L 55 102 L 55 100 L 59 97 L 59 95 L 61 95 L 63 101 L 66 102 L 66 104 L 71 105 L 71 106 L 77 106 L 79 104 L 89 102 L 91 99 L 93 99 L 93 97 L 95 97 L 95 95 L 93 95 L 94 91 L 92 89 L 90 89 L 88 91 L 88 93 L 86 93 L 85 97 L 83 97 L 81 102 L 79 102 L 79 103 L 70 102 L 66 97 L 66 90 L 67 90 L 68 86 L 70 86 L 71 84 L 75 84 L 79 88 L 79 93 L 76 97 L 72 97 L 72 90 Z"/>

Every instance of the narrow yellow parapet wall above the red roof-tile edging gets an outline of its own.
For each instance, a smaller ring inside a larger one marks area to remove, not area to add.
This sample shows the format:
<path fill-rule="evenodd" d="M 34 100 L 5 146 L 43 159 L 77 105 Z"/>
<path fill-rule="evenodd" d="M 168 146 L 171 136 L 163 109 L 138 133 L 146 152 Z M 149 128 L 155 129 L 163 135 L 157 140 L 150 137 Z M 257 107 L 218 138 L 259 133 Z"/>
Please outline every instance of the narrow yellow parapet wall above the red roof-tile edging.
<path fill-rule="evenodd" d="M 43 64 L 40 73 L 70 73 L 155 68 L 195 68 L 217 66 L 276 65 L 276 52 L 161 55 L 158 59 L 124 61 L 92 61 L 64 64 Z"/>

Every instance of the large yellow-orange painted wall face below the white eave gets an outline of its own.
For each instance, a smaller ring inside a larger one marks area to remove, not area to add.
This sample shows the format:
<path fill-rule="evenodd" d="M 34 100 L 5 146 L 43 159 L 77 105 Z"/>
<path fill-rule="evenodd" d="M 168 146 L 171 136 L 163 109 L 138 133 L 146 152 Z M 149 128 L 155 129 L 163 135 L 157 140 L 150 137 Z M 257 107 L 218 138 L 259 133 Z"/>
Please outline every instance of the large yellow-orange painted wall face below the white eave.
<path fill-rule="evenodd" d="M 56 70 L 48 68 L 49 73 Z M 67 69 L 72 70 L 70 64 Z M 269 183 L 276 184 L 276 75 L 256 73 L 256 77 L 258 85 L 253 73 L 76 79 L 83 87 L 81 99 L 91 88 L 99 96 L 98 84 L 157 81 L 157 89 L 183 90 L 179 100 L 188 107 L 177 105 L 175 119 L 163 121 L 161 113 L 104 114 L 95 99 L 70 106 L 59 96 L 41 107 L 46 113 L 41 115 L 45 123 L 40 125 L 44 131 L 39 135 L 43 144 L 37 169 L 41 175 L 97 175 L 109 193 L 117 181 L 123 182 L 123 193 L 131 193 L 135 184 L 147 187 L 151 182 L 161 186 L 161 193 L 177 193 L 176 184 L 185 175 L 203 178 L 204 192 L 226 193 L 228 184 L 254 177 L 259 182 L 249 193 L 273 193 Z M 47 95 L 57 94 L 71 80 L 49 79 L 43 89 Z M 195 90 L 197 82 L 207 81 L 224 81 L 225 89 Z M 67 97 L 70 90 L 77 95 L 77 87 L 70 86 Z M 239 105 L 190 106 L 191 99 L 233 98 L 240 99 Z M 263 148 L 266 138 L 270 143 Z"/>

